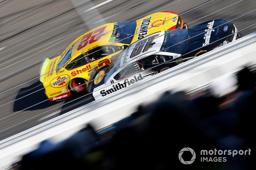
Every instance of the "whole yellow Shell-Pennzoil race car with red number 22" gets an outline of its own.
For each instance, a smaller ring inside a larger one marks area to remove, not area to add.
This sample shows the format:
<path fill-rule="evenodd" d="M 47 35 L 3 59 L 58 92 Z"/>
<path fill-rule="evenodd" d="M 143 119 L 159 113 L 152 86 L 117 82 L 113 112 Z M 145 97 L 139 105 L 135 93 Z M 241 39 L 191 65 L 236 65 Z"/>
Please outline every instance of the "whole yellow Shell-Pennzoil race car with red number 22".
<path fill-rule="evenodd" d="M 91 70 L 111 63 L 111 57 L 127 46 L 159 31 L 186 29 L 183 19 L 175 12 L 157 12 L 136 21 L 101 25 L 72 42 L 64 52 L 41 66 L 40 81 L 50 101 L 82 93 Z M 83 85 L 81 85 L 83 84 Z"/>

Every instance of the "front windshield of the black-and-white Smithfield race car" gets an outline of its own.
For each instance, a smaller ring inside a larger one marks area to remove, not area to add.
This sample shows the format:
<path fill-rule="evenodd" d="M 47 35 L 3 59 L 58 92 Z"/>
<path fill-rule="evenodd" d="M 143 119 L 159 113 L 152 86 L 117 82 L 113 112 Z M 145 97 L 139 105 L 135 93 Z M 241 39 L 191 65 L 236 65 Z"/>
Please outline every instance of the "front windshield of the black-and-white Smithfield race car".
<path fill-rule="evenodd" d="M 187 49 L 188 30 L 170 30 L 165 32 L 161 51 L 183 54 Z"/>

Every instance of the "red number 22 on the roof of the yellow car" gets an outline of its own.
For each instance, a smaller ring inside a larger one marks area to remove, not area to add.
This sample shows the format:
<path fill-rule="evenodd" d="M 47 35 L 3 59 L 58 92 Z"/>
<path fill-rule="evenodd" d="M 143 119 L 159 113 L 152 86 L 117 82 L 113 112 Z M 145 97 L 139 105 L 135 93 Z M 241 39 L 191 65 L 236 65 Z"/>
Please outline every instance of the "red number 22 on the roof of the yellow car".
<path fill-rule="evenodd" d="M 82 41 L 79 43 L 78 47 L 77 47 L 77 51 L 81 50 L 82 48 L 84 48 L 88 42 L 89 44 L 98 41 L 100 39 L 100 37 L 102 36 L 102 32 L 105 30 L 107 26 L 101 27 L 93 32 L 90 32 L 89 34 L 85 35 L 82 38 Z M 88 41 L 89 40 L 89 41 Z"/>

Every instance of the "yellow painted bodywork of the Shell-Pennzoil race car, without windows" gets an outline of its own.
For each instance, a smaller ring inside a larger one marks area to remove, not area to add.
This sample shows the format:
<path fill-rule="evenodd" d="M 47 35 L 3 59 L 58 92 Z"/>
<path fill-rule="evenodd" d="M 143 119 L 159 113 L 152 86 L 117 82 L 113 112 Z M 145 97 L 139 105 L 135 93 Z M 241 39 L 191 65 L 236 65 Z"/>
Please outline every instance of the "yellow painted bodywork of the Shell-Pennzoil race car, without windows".
<path fill-rule="evenodd" d="M 181 17 L 179 19 L 178 17 L 180 16 L 178 16 L 176 13 L 157 12 L 136 20 L 136 29 L 131 44 L 143 38 L 144 36 L 148 36 L 155 32 L 166 31 L 170 29 L 182 29 L 184 22 Z M 180 23 L 178 23 L 178 21 L 180 21 Z M 180 27 L 176 28 L 176 25 L 180 25 Z M 147 31 L 142 32 L 145 30 L 145 28 L 147 28 Z M 104 67 L 106 63 L 109 64 L 111 62 L 110 58 L 120 53 L 121 50 L 104 56 L 99 60 L 91 60 L 90 63 L 81 67 L 67 70 L 65 67 L 68 65 L 68 63 L 73 61 L 79 55 L 100 46 L 114 45 L 122 47 L 124 45 L 130 45 L 117 42 L 109 42 L 113 30 L 114 23 L 101 25 L 73 41 L 60 56 L 53 58 L 52 60 L 46 59 L 47 62 L 44 62 L 43 68 L 41 69 L 40 81 L 44 85 L 45 94 L 48 98 L 69 92 L 69 82 L 74 78 L 83 78 L 85 81 L 89 80 L 90 70 L 92 70 L 93 67 L 100 68 Z M 61 67 L 56 72 L 58 63 L 60 60 L 62 60 L 62 57 L 65 56 L 66 52 L 68 52 L 70 48 L 72 48 L 71 58 L 67 60 L 63 67 Z"/>

